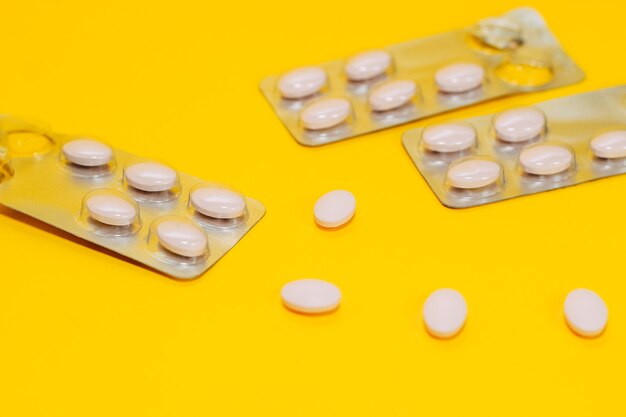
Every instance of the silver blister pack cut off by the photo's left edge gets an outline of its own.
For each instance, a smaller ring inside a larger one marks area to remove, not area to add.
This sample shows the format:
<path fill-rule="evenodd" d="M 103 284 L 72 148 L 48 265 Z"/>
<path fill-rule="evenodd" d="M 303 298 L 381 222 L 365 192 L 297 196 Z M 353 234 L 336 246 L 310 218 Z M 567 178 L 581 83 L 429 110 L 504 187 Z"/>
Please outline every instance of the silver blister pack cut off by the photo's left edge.
<path fill-rule="evenodd" d="M 194 278 L 263 217 L 227 186 L 103 141 L 0 117 L 0 204 L 167 275 Z"/>

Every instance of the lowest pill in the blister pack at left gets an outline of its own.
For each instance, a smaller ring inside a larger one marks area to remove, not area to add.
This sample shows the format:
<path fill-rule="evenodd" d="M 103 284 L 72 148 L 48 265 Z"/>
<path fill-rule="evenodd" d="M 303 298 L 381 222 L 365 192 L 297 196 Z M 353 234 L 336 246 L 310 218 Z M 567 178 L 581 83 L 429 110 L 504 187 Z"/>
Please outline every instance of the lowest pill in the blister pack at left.
<path fill-rule="evenodd" d="M 165 220 L 156 227 L 159 243 L 180 256 L 196 257 L 207 252 L 207 235 L 200 227 L 182 220 Z"/>

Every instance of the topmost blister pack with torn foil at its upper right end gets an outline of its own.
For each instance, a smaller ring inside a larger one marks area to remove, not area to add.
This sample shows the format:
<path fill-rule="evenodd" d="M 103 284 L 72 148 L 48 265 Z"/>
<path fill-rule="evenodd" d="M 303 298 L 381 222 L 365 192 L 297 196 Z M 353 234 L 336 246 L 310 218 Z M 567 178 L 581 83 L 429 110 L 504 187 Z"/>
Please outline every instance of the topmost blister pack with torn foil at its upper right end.
<path fill-rule="evenodd" d="M 535 10 L 298 68 L 261 82 L 291 135 L 319 146 L 511 94 L 581 81 Z"/>

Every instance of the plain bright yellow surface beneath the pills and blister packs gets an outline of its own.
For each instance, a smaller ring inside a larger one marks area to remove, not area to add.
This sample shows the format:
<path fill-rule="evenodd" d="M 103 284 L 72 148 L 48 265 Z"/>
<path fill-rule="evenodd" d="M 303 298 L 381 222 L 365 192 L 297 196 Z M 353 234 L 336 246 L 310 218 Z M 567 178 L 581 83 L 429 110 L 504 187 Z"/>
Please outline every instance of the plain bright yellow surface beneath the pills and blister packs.
<path fill-rule="evenodd" d="M 588 74 L 572 87 L 440 119 L 626 82 L 626 3 L 528 1 Z M 0 112 L 106 138 L 267 206 L 193 282 L 0 211 L 0 415 L 623 416 L 626 176 L 475 209 L 441 206 L 400 144 L 408 127 L 309 149 L 259 80 L 522 5 L 13 1 L 2 5 Z M 352 190 L 346 228 L 317 228 L 322 193 Z M 280 304 L 301 277 L 341 287 L 334 314 Z M 454 287 L 451 341 L 421 324 Z M 561 309 L 589 287 L 609 327 L 574 336 Z"/>

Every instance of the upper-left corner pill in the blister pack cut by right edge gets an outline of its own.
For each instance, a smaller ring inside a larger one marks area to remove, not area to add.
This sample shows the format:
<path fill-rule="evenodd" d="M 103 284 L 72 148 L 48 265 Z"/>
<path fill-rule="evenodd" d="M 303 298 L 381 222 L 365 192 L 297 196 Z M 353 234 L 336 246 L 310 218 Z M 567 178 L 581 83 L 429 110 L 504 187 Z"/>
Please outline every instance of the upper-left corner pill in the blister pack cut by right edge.
<path fill-rule="evenodd" d="M 446 123 L 424 129 L 422 141 L 433 152 L 460 152 L 474 146 L 476 131 L 470 126 Z"/>

